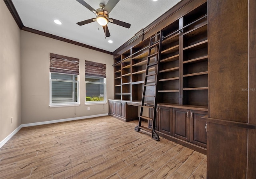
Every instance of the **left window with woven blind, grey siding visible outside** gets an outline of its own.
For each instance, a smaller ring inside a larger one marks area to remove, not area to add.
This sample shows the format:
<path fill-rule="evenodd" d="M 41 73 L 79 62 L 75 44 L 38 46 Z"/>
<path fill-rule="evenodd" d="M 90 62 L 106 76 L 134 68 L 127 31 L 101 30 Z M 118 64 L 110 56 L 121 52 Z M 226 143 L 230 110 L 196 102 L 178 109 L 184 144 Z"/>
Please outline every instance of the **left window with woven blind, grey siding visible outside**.
<path fill-rule="evenodd" d="M 79 105 L 79 59 L 50 53 L 50 107 Z"/>

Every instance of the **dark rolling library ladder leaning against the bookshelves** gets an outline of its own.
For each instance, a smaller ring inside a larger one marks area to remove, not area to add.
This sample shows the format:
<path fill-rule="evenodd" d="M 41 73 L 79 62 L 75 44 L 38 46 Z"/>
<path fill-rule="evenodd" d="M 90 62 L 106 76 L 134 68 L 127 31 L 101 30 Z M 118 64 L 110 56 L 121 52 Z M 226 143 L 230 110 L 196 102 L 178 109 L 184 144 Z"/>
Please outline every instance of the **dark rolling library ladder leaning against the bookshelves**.
<path fill-rule="evenodd" d="M 160 53 L 161 53 L 161 44 L 162 44 L 162 31 L 152 35 L 149 42 L 148 58 L 146 65 L 146 74 L 144 80 L 144 87 L 142 92 L 142 100 L 140 105 L 140 116 L 138 126 L 134 128 L 136 132 L 140 130 L 145 130 L 151 133 L 151 137 L 154 140 L 159 140 L 158 134 L 155 132 L 156 125 L 156 105 L 157 105 L 157 94 L 158 94 L 158 76 L 159 76 L 159 62 L 160 62 Z M 152 88 L 153 87 L 153 88 Z M 143 116 L 144 108 L 152 108 L 153 115 L 152 118 Z M 142 120 L 152 120 L 151 130 L 145 126 L 141 125 Z"/>

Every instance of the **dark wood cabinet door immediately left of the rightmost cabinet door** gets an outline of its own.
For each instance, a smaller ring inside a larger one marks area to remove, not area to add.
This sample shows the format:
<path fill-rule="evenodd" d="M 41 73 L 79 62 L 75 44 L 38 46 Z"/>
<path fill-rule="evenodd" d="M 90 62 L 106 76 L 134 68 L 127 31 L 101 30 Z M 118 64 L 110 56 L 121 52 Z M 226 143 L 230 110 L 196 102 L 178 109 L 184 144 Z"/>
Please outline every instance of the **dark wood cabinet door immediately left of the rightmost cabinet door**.
<path fill-rule="evenodd" d="M 173 108 L 173 136 L 189 141 L 189 110 Z"/>

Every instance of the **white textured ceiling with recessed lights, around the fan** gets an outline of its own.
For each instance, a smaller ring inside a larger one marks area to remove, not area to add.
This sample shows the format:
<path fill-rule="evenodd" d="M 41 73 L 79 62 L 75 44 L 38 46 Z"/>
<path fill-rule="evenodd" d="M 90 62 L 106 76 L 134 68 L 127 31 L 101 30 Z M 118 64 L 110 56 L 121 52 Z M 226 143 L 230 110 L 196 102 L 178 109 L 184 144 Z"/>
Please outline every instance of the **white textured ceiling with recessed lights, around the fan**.
<path fill-rule="evenodd" d="M 84 0 L 92 8 L 108 0 Z M 108 23 L 110 37 L 102 26 L 92 22 L 78 26 L 76 22 L 95 18 L 95 14 L 76 0 L 12 0 L 25 27 L 57 35 L 99 49 L 113 52 L 134 34 L 148 26 L 180 0 L 120 0 L 109 13 L 110 18 L 131 24 L 130 29 Z M 62 25 L 57 25 L 58 19 Z M 99 30 L 98 30 L 99 29 Z M 111 39 L 113 43 L 108 43 Z"/>

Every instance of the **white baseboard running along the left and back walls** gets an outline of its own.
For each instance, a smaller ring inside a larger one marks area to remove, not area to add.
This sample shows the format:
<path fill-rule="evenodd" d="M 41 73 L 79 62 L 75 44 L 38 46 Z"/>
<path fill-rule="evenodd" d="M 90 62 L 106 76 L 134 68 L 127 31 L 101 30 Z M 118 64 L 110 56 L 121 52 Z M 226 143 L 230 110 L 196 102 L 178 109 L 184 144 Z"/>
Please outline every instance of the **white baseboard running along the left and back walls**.
<path fill-rule="evenodd" d="M 43 124 L 53 124 L 53 123 L 58 123 L 58 122 L 67 122 L 67 121 L 72 121 L 72 120 L 80 120 L 80 119 L 88 119 L 88 118 L 96 118 L 96 117 L 101 117 L 101 116 L 108 116 L 108 113 L 106 114 L 97 114 L 97 115 L 92 115 L 92 116 L 82 116 L 82 117 L 76 117 L 76 118 L 67 118 L 67 119 L 58 119 L 58 120 L 50 120 L 50 121 L 44 121 L 44 122 L 34 122 L 34 123 L 28 123 L 28 124 L 21 124 L 16 128 L 11 134 L 9 134 L 4 140 L 0 142 L 0 148 L 10 140 L 21 128 L 24 127 L 30 127 L 30 126 L 39 126 Z"/>

